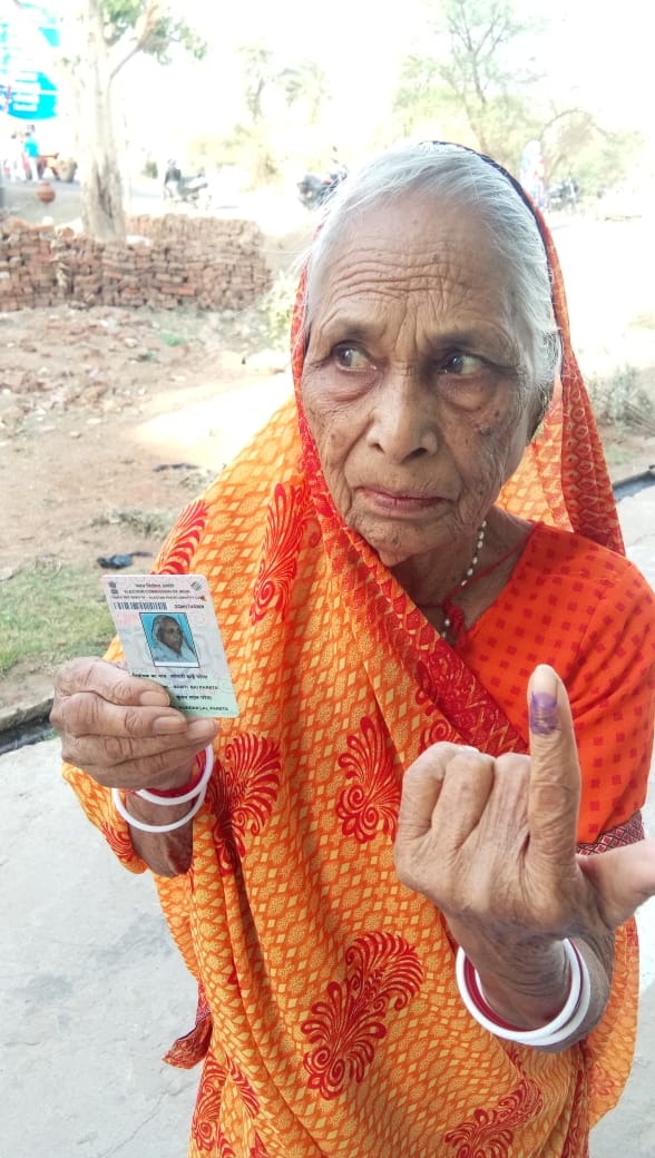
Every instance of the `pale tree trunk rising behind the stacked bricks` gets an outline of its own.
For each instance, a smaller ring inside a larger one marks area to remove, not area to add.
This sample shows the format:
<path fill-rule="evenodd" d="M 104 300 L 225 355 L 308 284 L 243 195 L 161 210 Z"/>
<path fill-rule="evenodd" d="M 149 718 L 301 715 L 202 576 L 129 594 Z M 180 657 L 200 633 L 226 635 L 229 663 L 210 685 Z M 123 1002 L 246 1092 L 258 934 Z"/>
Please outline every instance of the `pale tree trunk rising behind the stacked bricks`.
<path fill-rule="evenodd" d="M 123 183 L 111 111 L 111 72 L 100 0 L 85 6 L 86 45 L 80 61 L 82 227 L 99 241 L 125 237 Z"/>

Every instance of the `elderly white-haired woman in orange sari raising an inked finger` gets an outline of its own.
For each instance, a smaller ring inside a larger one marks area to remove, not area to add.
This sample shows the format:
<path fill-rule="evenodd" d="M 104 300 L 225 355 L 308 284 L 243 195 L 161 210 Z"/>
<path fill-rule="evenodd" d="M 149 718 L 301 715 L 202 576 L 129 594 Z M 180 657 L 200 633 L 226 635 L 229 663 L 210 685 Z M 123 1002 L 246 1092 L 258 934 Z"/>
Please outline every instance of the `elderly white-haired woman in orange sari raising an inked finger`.
<path fill-rule="evenodd" d="M 52 717 L 198 979 L 190 1155 L 583 1158 L 655 891 L 655 632 L 539 214 L 467 149 L 383 155 L 293 350 L 158 565 L 208 577 L 239 719 L 92 659 Z"/>

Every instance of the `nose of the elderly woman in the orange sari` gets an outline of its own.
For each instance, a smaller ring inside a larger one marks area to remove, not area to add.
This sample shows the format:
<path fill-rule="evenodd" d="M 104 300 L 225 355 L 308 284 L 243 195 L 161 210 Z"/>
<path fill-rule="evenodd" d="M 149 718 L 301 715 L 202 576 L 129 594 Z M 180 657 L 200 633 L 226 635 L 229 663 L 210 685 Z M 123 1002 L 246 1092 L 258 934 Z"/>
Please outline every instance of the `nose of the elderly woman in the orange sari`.
<path fill-rule="evenodd" d="M 415 373 L 390 373 L 376 397 L 369 445 L 393 462 L 435 454 L 439 433 L 434 403 Z"/>

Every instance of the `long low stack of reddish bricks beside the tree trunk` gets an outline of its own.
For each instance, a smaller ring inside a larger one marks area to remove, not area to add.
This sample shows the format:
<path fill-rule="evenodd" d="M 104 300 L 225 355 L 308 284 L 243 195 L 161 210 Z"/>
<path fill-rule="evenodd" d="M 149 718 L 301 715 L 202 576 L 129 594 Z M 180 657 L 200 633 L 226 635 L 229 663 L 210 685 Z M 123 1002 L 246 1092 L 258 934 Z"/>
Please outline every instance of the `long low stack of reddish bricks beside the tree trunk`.
<path fill-rule="evenodd" d="M 271 284 L 252 221 L 132 218 L 125 243 L 0 221 L 0 312 L 52 306 L 243 309 Z"/>

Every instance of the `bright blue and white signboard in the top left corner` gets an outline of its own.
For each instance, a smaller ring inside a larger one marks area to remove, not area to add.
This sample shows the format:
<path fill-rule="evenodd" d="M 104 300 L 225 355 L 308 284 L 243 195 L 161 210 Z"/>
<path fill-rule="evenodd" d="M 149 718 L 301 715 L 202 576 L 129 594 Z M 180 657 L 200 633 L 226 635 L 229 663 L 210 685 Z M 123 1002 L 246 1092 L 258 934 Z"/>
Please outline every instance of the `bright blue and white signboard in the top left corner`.
<path fill-rule="evenodd" d="M 0 20 L 0 111 L 19 120 L 57 116 L 57 86 L 48 75 L 59 47 L 59 21 L 41 5 L 24 3 Z"/>

